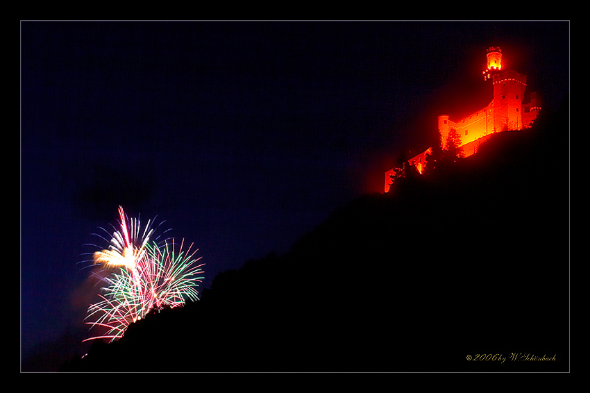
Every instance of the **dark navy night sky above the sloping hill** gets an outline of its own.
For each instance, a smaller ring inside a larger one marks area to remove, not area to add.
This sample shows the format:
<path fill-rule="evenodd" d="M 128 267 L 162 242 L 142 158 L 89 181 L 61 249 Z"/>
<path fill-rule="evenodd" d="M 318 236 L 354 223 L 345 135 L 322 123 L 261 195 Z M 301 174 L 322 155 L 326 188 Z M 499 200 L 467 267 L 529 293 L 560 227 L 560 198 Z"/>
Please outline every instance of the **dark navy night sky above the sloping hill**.
<path fill-rule="evenodd" d="M 83 245 L 119 205 L 194 242 L 208 287 L 380 192 L 437 115 L 486 106 L 487 47 L 546 108 L 569 87 L 568 22 L 20 27 L 22 357 L 81 328 Z"/>

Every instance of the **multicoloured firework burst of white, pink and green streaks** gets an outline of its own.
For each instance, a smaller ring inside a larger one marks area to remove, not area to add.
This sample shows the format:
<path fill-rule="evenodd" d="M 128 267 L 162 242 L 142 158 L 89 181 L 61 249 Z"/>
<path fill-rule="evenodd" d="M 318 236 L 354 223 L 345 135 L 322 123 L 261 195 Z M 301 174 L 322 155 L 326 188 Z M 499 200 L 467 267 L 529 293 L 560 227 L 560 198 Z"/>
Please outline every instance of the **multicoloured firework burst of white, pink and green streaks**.
<path fill-rule="evenodd" d="M 152 241 L 150 222 L 140 231 L 139 220 L 127 220 L 119 206 L 121 230 L 115 231 L 108 249 L 94 253 L 94 263 L 111 270 L 103 278 L 107 284 L 99 294 L 101 301 L 87 310 L 86 322 L 106 333 L 87 340 L 121 337 L 126 328 L 151 310 L 184 306 L 185 301 L 199 300 L 197 288 L 203 280 L 201 257 L 183 251 L 184 240 L 176 249 L 174 240 L 162 244 Z"/>

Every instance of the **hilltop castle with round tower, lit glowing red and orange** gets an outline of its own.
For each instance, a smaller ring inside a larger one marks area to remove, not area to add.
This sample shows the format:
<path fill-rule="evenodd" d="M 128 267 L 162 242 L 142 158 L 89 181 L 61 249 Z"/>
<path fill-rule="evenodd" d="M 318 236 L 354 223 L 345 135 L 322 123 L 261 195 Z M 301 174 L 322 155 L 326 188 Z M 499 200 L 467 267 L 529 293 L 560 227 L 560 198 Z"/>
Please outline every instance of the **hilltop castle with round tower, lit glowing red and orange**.
<path fill-rule="evenodd" d="M 539 97 L 530 93 L 530 101 L 523 103 L 523 96 L 527 85 L 526 75 L 503 67 L 502 50 L 490 47 L 486 53 L 486 64 L 482 72 L 484 81 L 491 81 L 494 98 L 487 106 L 471 115 L 451 120 L 448 115 L 438 118 L 438 131 L 441 148 L 447 147 L 449 133 L 460 138 L 459 147 L 463 156 L 468 157 L 477 153 L 479 145 L 490 135 L 502 131 L 516 131 L 530 128 L 541 109 Z M 426 157 L 432 153 L 428 148 L 422 153 L 407 160 L 407 165 L 415 167 L 421 174 L 426 165 Z M 385 192 L 389 191 L 393 177 L 401 177 L 404 169 L 391 168 L 385 172 Z"/>

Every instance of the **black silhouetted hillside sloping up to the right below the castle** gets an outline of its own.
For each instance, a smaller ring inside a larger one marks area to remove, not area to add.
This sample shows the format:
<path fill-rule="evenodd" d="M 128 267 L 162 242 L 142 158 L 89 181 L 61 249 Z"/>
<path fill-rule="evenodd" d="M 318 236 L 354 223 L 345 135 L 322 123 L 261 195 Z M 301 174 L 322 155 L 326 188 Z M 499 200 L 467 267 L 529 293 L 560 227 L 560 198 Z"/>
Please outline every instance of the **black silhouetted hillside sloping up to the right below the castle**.
<path fill-rule="evenodd" d="M 62 371 L 568 371 L 566 108 L 352 201 Z M 511 352 L 557 360 L 466 360 Z"/>

